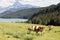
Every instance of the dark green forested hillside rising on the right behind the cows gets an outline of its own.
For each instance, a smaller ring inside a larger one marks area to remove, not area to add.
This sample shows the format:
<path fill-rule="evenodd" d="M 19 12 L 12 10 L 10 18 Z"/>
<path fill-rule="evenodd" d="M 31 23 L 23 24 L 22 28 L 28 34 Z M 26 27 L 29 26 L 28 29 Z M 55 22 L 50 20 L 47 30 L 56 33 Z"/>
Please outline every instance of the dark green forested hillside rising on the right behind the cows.
<path fill-rule="evenodd" d="M 60 25 L 60 3 L 43 7 L 37 14 L 34 14 L 29 22 L 35 24 Z"/>

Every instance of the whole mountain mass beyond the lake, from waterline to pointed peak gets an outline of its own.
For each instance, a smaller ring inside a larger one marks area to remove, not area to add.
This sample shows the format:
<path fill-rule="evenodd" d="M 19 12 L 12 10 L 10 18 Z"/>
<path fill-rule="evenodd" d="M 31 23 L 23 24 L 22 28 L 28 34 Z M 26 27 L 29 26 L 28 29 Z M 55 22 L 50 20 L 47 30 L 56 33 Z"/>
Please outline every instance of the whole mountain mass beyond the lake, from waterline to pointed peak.
<path fill-rule="evenodd" d="M 0 18 L 29 18 L 38 12 L 37 6 L 21 4 L 18 0 L 8 7 L 0 7 Z"/>

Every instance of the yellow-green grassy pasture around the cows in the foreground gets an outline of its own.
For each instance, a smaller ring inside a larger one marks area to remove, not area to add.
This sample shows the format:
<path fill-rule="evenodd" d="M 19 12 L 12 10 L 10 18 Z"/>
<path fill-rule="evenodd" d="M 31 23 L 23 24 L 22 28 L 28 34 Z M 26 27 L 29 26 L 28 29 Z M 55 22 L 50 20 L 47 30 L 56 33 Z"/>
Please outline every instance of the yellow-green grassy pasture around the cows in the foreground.
<path fill-rule="evenodd" d="M 55 26 L 49 32 L 45 26 L 45 34 L 41 36 L 40 32 L 29 33 L 27 29 L 33 25 L 37 24 L 0 22 L 0 40 L 60 40 L 60 27 Z"/>

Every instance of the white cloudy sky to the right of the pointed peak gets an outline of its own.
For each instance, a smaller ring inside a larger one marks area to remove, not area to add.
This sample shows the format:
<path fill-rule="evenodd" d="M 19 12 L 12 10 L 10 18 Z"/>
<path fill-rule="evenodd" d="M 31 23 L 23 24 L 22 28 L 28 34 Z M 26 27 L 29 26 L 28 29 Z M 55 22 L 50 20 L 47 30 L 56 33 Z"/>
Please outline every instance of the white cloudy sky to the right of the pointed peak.
<path fill-rule="evenodd" d="M 49 6 L 51 4 L 57 4 L 60 0 L 21 0 L 20 3 L 22 4 L 31 4 L 35 6 Z"/>

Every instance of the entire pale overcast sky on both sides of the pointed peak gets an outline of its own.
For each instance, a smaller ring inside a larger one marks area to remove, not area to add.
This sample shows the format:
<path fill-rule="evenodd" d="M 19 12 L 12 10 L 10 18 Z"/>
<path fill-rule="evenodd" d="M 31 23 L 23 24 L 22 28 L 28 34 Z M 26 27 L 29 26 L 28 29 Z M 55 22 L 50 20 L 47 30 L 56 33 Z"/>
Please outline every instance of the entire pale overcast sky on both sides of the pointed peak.
<path fill-rule="evenodd" d="M 60 0 L 18 0 L 21 4 L 30 4 L 34 6 L 45 7 L 52 4 L 57 4 Z M 0 0 L 0 7 L 8 7 L 13 5 L 16 0 Z"/>

